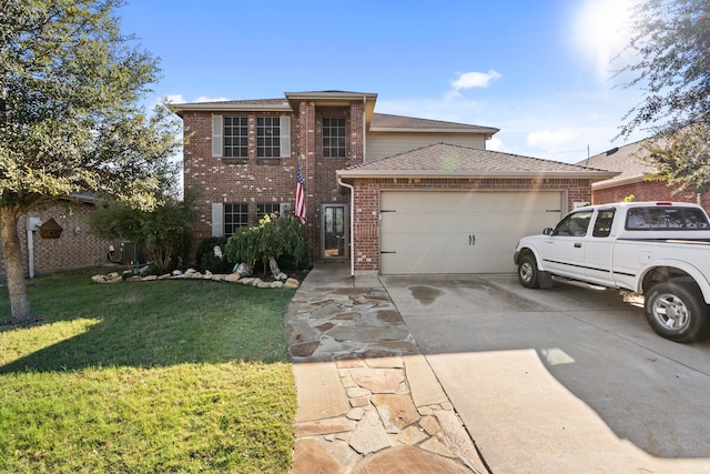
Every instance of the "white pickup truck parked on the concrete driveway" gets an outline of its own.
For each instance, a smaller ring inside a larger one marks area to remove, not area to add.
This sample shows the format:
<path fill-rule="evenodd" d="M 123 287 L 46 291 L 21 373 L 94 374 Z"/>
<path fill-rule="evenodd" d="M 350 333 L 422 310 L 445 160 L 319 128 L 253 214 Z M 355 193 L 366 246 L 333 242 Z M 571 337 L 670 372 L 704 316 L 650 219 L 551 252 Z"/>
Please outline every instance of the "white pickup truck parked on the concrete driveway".
<path fill-rule="evenodd" d="M 576 209 L 555 229 L 520 240 L 518 281 L 555 281 L 643 294 L 646 319 L 677 342 L 710 336 L 710 222 L 701 206 L 629 202 Z"/>

